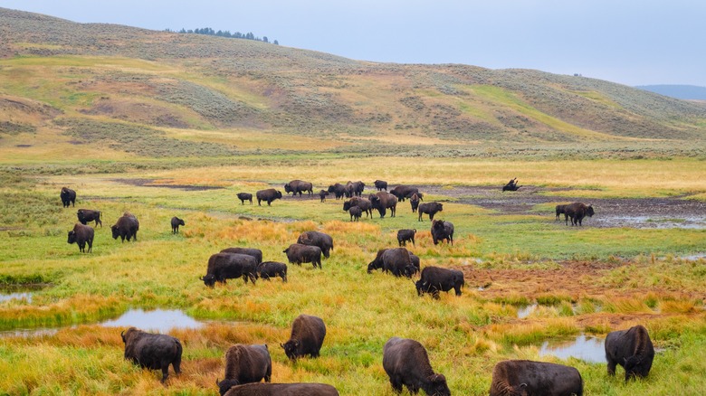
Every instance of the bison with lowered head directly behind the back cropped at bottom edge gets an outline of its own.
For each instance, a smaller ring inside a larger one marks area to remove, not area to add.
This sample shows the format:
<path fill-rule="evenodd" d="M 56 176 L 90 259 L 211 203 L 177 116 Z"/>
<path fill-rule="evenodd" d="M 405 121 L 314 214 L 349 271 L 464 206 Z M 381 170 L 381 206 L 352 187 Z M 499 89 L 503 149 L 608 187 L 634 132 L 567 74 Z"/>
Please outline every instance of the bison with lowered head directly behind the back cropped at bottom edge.
<path fill-rule="evenodd" d="M 272 377 L 272 358 L 267 344 L 234 344 L 225 352 L 225 377 L 218 382 L 219 392 L 223 395 L 232 386 L 242 383 L 270 382 Z"/>

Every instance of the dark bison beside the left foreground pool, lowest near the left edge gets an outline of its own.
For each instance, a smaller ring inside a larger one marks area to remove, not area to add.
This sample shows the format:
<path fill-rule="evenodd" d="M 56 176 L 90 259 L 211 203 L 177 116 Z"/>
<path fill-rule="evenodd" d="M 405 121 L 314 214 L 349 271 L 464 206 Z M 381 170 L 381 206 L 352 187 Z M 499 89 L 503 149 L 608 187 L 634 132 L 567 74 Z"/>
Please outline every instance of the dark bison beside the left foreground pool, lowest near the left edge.
<path fill-rule="evenodd" d="M 169 364 L 178 375 L 181 372 L 182 347 L 179 340 L 171 335 L 145 333 L 135 327 L 120 333 L 125 344 L 125 359 L 150 370 L 162 370 L 162 382 L 169 376 Z"/>

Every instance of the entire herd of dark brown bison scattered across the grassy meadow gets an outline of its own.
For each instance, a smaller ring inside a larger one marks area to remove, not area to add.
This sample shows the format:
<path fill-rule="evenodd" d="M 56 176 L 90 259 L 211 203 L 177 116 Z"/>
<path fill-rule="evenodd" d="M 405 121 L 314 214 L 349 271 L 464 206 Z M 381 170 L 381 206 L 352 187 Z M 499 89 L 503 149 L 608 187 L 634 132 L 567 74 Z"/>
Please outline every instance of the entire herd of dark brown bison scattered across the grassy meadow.
<path fill-rule="evenodd" d="M 337 200 L 348 198 L 343 209 L 350 214 L 351 221 L 358 221 L 363 213 L 372 217 L 377 211 L 381 218 L 389 210 L 390 216 L 396 216 L 396 206 L 399 202 L 409 200 L 412 212 L 418 213 L 422 221 L 427 214 L 432 221 L 431 233 L 434 244 L 446 241 L 453 245 L 453 223 L 434 220 L 434 215 L 443 211 L 442 203 L 420 203 L 424 194 L 411 185 L 397 185 L 387 192 L 387 183 L 376 180 L 374 185 L 377 193 L 363 196 L 365 184 L 348 182 L 348 184 L 332 184 L 327 190 L 320 190 L 320 200 L 325 202 L 329 195 Z M 512 179 L 502 186 L 502 191 L 517 191 L 520 185 L 517 179 Z M 302 193 L 313 194 L 313 185 L 301 180 L 293 180 L 284 185 L 285 193 L 301 196 Z M 242 204 L 245 201 L 253 203 L 252 193 L 238 193 Z M 255 193 L 258 205 L 266 202 L 271 205 L 274 200 L 281 199 L 282 193 L 274 188 Z M 64 207 L 74 205 L 76 193 L 63 187 L 61 192 Z M 72 231 L 69 231 L 69 243 L 77 243 L 81 252 L 91 252 L 94 230 L 87 225 L 95 222 L 102 227 L 100 211 L 79 209 L 78 220 Z M 595 214 L 591 205 L 570 203 L 556 207 L 556 219 L 564 214 L 568 224 L 581 226 L 586 216 Z M 179 226 L 185 222 L 177 217 L 171 219 L 172 232 L 177 233 Z M 110 227 L 113 239 L 137 240 L 139 222 L 137 217 L 125 212 L 117 222 Z M 456 269 L 444 269 L 427 266 L 421 269 L 419 258 L 412 251 L 406 250 L 407 242 L 415 244 L 415 229 L 399 230 L 397 232 L 398 247 L 379 250 L 377 256 L 367 266 L 367 272 L 381 269 L 396 277 L 412 278 L 419 273 L 415 282 L 418 295 L 431 294 L 434 298 L 439 293 L 454 290 L 461 296 L 464 284 L 463 273 Z M 88 250 L 85 250 L 88 245 Z M 305 231 L 296 243 L 283 250 L 289 263 L 300 265 L 311 263 L 314 268 L 321 269 L 321 256 L 329 258 L 334 250 L 333 239 L 320 231 Z M 253 284 L 258 278 L 281 278 L 287 281 L 287 265 L 278 261 L 262 261 L 262 250 L 249 248 L 229 248 L 213 254 L 208 259 L 205 276 L 200 279 L 205 286 L 214 287 L 215 282 L 225 283 L 226 279 L 243 278 Z M 297 316 L 291 325 L 290 339 L 280 344 L 284 353 L 292 361 L 302 356 L 318 357 L 326 335 L 326 325 L 317 316 Z M 180 372 L 182 344 L 170 335 L 150 334 L 130 327 L 121 333 L 125 344 L 124 357 L 141 367 L 161 370 L 162 382 L 167 381 L 168 367 L 171 364 L 176 374 Z M 654 359 L 654 347 L 647 330 L 642 325 L 636 325 L 627 330 L 611 332 L 606 337 L 607 372 L 615 375 L 615 366 L 625 369 L 625 381 L 633 377 L 644 377 L 650 371 Z M 420 389 L 427 395 L 450 395 L 444 374 L 434 372 L 424 345 L 412 339 L 398 337 L 390 338 L 383 346 L 383 368 L 389 376 L 390 384 L 396 392 L 401 392 L 403 386 L 415 394 Z M 225 372 L 222 381 L 216 380 L 221 395 L 338 395 L 331 385 L 324 383 L 270 383 L 272 377 L 272 360 L 266 344 L 235 344 L 225 353 Z M 264 380 L 262 383 L 261 381 Z M 532 362 L 526 360 L 508 360 L 497 363 L 492 371 L 492 395 L 581 395 L 583 380 L 576 368 L 555 363 Z"/>

